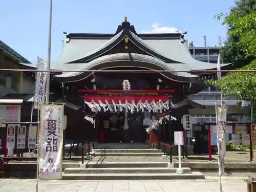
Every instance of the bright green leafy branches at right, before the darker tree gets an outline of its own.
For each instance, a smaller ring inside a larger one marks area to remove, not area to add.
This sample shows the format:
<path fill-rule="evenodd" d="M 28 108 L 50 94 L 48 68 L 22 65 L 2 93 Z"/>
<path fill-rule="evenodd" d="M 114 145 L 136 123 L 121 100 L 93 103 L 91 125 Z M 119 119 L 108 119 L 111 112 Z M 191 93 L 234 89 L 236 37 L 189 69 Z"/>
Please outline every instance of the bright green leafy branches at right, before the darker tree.
<path fill-rule="evenodd" d="M 220 19 L 223 13 L 218 15 Z M 223 25 L 232 26 L 228 31 L 231 37 L 237 37 L 238 42 L 233 42 L 236 49 L 242 55 L 233 54 L 234 58 L 254 59 L 248 65 L 238 69 L 241 70 L 256 70 L 256 11 L 249 12 L 244 16 L 240 16 L 237 12 L 230 13 L 225 16 Z M 228 49 L 229 47 L 225 47 Z M 230 54 L 231 55 L 231 54 Z M 210 81 L 214 83 L 214 81 Z M 221 90 L 224 95 L 234 95 L 241 99 L 256 102 L 256 73 L 255 72 L 230 72 L 216 82 L 216 87 Z"/>

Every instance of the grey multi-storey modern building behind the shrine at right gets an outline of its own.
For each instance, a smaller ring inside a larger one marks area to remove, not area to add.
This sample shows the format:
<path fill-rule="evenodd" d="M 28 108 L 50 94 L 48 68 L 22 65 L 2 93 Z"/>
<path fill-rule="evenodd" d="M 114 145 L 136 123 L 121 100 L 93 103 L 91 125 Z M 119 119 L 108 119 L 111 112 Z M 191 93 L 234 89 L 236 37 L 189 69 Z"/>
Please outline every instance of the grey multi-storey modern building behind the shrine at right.
<path fill-rule="evenodd" d="M 189 47 L 189 51 L 195 59 L 217 65 L 220 47 Z M 195 117 L 195 122 L 216 121 L 215 103 L 221 104 L 221 95 L 214 86 L 205 87 L 202 92 L 190 95 L 190 99 L 206 105 L 205 110 L 190 110 L 190 114 Z M 236 104 L 239 100 L 234 96 L 226 97 L 225 102 L 228 106 L 228 120 L 249 120 L 250 106 L 238 108 Z"/>

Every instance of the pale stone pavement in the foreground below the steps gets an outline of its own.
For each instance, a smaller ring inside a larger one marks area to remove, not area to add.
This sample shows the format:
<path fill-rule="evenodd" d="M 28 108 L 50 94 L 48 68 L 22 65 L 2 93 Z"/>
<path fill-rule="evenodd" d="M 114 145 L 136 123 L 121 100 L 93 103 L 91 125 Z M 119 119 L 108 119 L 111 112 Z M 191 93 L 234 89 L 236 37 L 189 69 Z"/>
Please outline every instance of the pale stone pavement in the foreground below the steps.
<path fill-rule="evenodd" d="M 39 192 L 215 192 L 218 177 L 206 180 L 39 181 Z M 245 192 L 243 177 L 223 177 L 224 192 Z M 1 192 L 35 192 L 35 179 L 0 179 Z"/>

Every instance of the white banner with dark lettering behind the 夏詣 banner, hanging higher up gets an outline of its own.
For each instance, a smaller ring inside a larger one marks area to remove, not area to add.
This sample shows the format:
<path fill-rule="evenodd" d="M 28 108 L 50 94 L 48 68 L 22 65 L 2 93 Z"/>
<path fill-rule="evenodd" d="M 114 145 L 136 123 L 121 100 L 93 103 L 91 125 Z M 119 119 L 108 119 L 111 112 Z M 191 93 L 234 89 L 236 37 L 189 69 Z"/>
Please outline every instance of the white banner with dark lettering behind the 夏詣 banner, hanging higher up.
<path fill-rule="evenodd" d="M 38 57 L 37 69 L 47 70 L 47 62 Z M 47 72 L 36 73 L 34 109 L 38 109 L 39 104 L 45 101 L 47 74 Z"/>

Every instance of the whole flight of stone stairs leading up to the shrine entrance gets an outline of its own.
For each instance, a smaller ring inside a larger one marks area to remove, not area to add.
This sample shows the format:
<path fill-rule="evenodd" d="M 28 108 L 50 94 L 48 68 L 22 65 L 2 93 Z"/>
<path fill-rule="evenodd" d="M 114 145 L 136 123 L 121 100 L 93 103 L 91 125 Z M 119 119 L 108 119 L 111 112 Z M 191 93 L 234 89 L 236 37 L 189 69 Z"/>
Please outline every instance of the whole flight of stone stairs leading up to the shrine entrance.
<path fill-rule="evenodd" d="M 174 164 L 170 164 L 169 159 L 162 159 L 161 150 L 152 150 L 148 144 L 146 147 L 133 146 L 136 145 L 122 145 L 122 148 L 119 148 L 120 145 L 115 148 L 96 148 L 91 152 L 92 159 L 90 161 L 80 164 L 78 168 L 65 168 L 62 178 L 66 180 L 205 178 L 199 172 L 191 172 L 188 167 L 183 167 L 184 174 L 177 174 Z"/>

